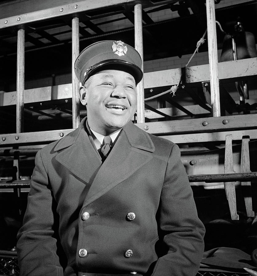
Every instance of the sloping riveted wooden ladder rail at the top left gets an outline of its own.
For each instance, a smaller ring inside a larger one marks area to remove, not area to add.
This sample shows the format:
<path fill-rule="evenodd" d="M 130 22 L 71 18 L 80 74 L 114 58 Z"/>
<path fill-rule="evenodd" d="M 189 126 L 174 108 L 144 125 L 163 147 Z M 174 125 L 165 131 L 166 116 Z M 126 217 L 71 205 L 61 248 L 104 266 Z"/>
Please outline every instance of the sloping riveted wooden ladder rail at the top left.
<path fill-rule="evenodd" d="M 82 11 L 94 10 L 94 9 L 108 7 L 108 6 L 119 5 L 119 4 L 120 5 L 128 4 L 133 2 L 137 2 L 137 1 L 135 0 L 108 0 L 108 1 L 87 0 L 87 1 L 68 3 L 60 6 L 53 6 L 51 8 L 36 10 L 34 12 L 29 12 L 29 13 L 23 13 L 23 14 L 17 13 L 17 15 L 0 19 L 0 29 L 16 26 L 20 24 L 45 20 L 49 18 L 56 18 L 59 16 L 68 15 L 68 14 L 79 13 Z"/>

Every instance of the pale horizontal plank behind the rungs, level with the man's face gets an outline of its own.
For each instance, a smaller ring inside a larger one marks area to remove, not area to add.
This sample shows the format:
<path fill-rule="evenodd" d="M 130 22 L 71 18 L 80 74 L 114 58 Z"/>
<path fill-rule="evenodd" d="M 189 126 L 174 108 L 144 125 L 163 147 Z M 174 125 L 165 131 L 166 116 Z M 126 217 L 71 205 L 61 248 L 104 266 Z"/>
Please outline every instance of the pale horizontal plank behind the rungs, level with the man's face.
<path fill-rule="evenodd" d="M 186 83 L 196 83 L 209 80 L 208 64 L 187 67 Z M 241 59 L 219 63 L 219 77 L 222 79 L 241 78 L 256 75 L 257 58 Z M 177 84 L 181 75 L 181 69 L 169 69 L 164 71 L 144 73 L 145 92 L 149 88 L 164 87 Z M 0 106 L 15 105 L 16 92 L 0 93 Z M 50 101 L 72 98 L 72 84 L 47 86 L 25 90 L 25 103 Z"/>

